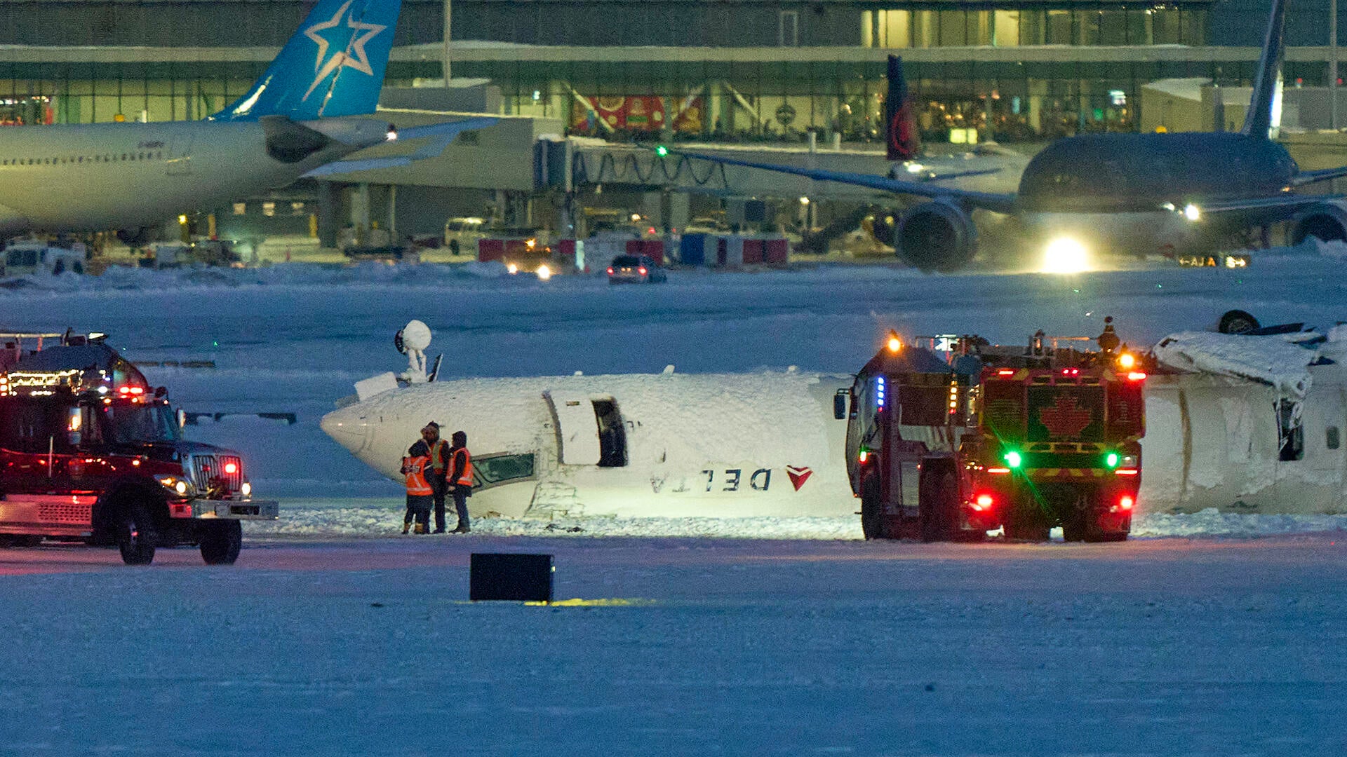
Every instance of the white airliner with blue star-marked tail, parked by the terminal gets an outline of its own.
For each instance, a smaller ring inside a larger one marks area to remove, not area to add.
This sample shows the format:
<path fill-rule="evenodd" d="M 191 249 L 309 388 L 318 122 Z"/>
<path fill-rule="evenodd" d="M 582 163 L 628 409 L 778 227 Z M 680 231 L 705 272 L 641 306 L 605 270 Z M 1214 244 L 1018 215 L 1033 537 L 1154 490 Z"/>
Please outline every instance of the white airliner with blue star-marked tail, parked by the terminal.
<path fill-rule="evenodd" d="M 494 123 L 470 119 L 399 133 L 388 121 L 361 117 L 379 102 L 400 5 L 319 0 L 261 78 L 201 121 L 4 129 L 0 234 L 114 229 L 139 241 L 179 213 L 218 207 L 306 174 L 407 163 Z M 434 144 L 377 164 L 339 160 L 416 137 L 434 137 Z"/>

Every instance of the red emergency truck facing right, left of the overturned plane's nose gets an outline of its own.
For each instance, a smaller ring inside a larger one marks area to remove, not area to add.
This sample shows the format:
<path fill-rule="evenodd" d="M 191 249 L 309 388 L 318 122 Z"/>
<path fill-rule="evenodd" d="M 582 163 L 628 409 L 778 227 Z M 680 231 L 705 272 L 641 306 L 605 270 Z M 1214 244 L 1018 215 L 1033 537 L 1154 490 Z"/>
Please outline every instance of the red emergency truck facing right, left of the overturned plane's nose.
<path fill-rule="evenodd" d="M 185 440 L 166 389 L 102 334 L 0 343 L 0 544 L 114 544 L 127 564 L 198 546 L 232 564 L 241 521 L 276 519 L 275 501 L 252 498 L 242 457 Z"/>

